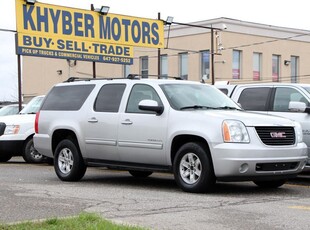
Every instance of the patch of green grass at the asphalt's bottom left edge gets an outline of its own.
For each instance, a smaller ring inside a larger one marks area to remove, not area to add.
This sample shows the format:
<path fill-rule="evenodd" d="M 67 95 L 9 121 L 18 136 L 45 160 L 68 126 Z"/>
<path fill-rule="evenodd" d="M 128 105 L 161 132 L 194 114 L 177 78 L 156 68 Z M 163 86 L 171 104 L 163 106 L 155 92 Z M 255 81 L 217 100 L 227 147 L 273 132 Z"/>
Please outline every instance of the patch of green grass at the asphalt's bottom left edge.
<path fill-rule="evenodd" d="M 0 224 L 0 230 L 145 230 L 145 228 L 114 224 L 94 213 L 81 213 L 77 217 L 48 219 L 45 221 L 24 222 L 18 224 Z"/>

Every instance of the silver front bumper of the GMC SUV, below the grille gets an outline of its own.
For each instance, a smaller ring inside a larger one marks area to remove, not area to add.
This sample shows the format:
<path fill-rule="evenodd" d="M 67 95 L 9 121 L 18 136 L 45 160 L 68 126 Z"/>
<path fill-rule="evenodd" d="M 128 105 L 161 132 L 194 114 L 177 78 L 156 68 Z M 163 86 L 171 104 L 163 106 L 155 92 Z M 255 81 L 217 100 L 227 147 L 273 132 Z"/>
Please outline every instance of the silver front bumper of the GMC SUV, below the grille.
<path fill-rule="evenodd" d="M 215 176 L 223 181 L 291 178 L 308 160 L 304 143 L 285 147 L 222 143 L 211 152 Z"/>

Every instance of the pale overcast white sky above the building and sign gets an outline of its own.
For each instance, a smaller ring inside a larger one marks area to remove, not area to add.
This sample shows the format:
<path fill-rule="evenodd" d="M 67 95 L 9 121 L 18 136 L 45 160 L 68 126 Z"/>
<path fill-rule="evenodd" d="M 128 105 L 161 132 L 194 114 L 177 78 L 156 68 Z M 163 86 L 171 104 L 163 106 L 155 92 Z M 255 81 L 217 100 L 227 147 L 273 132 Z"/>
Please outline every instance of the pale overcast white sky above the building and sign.
<path fill-rule="evenodd" d="M 133 17 L 191 23 L 226 17 L 272 26 L 310 30 L 309 3 L 306 0 L 39 0 L 42 3 L 90 9 L 94 4 L 110 7 L 110 13 Z M 15 0 L 0 0 L 0 30 L 16 30 Z M 14 33 L 0 31 L 0 102 L 18 100 L 17 57 Z"/>

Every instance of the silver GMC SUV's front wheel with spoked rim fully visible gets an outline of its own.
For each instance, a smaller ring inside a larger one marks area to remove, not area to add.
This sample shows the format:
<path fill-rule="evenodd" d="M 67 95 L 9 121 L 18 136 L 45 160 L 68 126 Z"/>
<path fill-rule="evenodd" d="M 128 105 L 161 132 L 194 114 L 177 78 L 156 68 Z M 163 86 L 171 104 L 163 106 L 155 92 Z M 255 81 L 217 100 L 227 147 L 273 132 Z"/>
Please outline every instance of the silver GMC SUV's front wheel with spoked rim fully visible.
<path fill-rule="evenodd" d="M 174 178 L 185 192 L 212 191 L 215 176 L 208 148 L 201 143 L 189 142 L 177 152 L 173 162 Z"/>

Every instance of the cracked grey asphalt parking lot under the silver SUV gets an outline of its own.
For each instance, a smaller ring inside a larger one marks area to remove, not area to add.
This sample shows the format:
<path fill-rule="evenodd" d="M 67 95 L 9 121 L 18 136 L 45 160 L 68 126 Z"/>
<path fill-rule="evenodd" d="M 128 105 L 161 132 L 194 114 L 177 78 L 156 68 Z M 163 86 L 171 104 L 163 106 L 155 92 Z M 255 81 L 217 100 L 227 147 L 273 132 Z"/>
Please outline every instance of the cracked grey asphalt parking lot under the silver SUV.
<path fill-rule="evenodd" d="M 0 164 L 0 222 L 96 212 L 150 229 L 310 229 L 310 176 L 280 189 L 219 183 L 211 194 L 182 192 L 172 175 L 137 179 L 128 172 L 88 168 L 80 182 L 60 181 L 53 166 L 20 157 Z"/>

